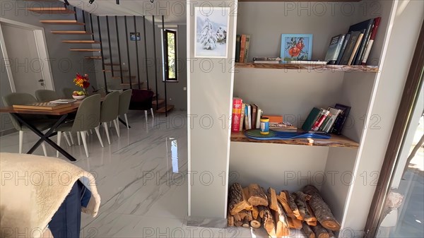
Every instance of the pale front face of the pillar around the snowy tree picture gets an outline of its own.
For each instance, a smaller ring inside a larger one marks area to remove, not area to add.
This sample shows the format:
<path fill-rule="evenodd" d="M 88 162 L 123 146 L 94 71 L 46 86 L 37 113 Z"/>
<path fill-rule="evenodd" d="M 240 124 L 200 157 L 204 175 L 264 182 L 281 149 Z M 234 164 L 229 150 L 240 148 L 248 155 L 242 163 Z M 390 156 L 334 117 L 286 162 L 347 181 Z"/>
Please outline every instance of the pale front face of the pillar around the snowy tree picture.
<path fill-rule="evenodd" d="M 187 69 L 187 107 L 189 117 L 195 117 L 188 126 L 188 170 L 192 173 L 189 174 L 192 181 L 189 184 L 189 215 L 223 219 L 226 217 L 228 188 L 225 174 L 228 172 L 230 154 L 228 121 L 232 106 L 231 61 L 194 59 L 194 6 L 204 5 L 199 1 L 187 1 L 187 4 L 187 9 L 190 9 L 187 11 L 187 57 L 192 63 Z M 237 6 L 236 1 L 211 1 L 209 4 L 225 4 L 233 9 Z M 230 16 L 228 58 L 235 52 L 235 20 L 235 16 Z M 205 68 L 207 64 L 213 64 L 211 69 Z M 222 66 L 225 66 L 225 71 Z M 200 122 L 201 119 L 204 119 L 203 122 Z M 203 180 L 201 174 L 206 174 Z"/>

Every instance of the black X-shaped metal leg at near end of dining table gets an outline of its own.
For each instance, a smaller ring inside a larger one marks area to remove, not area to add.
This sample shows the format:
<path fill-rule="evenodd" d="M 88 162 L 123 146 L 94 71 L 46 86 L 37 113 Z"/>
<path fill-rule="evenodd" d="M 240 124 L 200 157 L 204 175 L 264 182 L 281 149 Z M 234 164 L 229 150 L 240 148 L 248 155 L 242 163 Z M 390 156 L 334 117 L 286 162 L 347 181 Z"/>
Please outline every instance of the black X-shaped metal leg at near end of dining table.
<path fill-rule="evenodd" d="M 57 127 L 60 124 L 62 124 L 62 122 L 66 119 L 66 117 L 68 117 L 68 114 L 62 115 L 60 117 L 60 119 L 52 126 L 52 128 L 50 128 L 49 131 L 47 131 L 47 133 L 45 133 L 45 134 L 43 134 L 40 130 L 38 130 L 37 128 L 35 128 L 35 126 L 33 126 L 30 123 L 28 123 L 28 121 L 25 121 L 25 119 L 23 119 L 23 117 L 21 117 L 19 114 L 17 114 L 17 113 L 11 113 L 11 115 L 13 115 L 13 117 L 15 117 L 23 125 L 28 126 L 28 128 L 31 131 L 33 131 L 35 134 L 37 134 L 37 136 L 40 136 L 40 140 L 38 140 L 37 143 L 35 143 L 35 145 L 33 145 L 33 148 L 30 148 L 30 150 L 28 150 L 28 153 L 27 154 L 32 154 L 34 152 L 34 150 L 38 146 L 40 146 L 40 144 L 43 141 L 45 141 L 45 142 L 49 143 L 49 145 L 52 145 L 53 148 L 55 148 L 56 150 L 58 150 L 59 153 L 61 153 L 62 155 L 64 155 L 68 160 L 76 161 L 76 159 L 72 155 L 69 155 L 69 153 L 67 153 L 66 150 L 64 150 L 63 148 L 61 148 L 59 145 L 57 145 L 57 143 L 54 143 L 49 138 L 50 136 L 52 136 L 52 133 L 54 133 L 54 130 L 57 129 Z"/>

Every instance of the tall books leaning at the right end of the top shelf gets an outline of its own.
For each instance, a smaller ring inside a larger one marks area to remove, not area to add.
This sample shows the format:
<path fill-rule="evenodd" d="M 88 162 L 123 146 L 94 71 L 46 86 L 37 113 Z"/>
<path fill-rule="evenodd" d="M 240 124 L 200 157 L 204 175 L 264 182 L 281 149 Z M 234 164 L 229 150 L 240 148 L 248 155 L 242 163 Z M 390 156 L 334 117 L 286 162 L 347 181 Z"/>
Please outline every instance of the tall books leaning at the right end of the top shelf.
<path fill-rule="evenodd" d="M 381 18 L 351 25 L 348 33 L 331 37 L 325 56 L 328 64 L 366 65 Z"/>

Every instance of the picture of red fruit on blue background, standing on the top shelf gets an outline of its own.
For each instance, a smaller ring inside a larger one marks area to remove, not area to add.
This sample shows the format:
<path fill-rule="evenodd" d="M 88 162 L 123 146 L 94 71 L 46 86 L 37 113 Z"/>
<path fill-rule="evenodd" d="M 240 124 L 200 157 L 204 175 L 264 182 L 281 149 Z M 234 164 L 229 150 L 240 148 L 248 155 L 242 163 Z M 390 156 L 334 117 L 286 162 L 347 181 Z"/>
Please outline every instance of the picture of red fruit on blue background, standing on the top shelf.
<path fill-rule="evenodd" d="M 281 60 L 312 59 L 312 34 L 281 34 Z"/>

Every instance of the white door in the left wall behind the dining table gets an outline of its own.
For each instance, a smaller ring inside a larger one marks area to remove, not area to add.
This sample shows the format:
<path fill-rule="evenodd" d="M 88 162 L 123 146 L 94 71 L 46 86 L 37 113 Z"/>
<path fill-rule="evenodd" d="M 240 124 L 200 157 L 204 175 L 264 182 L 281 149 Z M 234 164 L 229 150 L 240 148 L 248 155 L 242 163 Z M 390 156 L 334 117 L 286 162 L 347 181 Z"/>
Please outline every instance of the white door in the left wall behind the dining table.
<path fill-rule="evenodd" d="M 45 89 L 44 64 L 38 55 L 34 30 L 7 23 L 1 23 L 1 30 L 16 92 L 34 95 L 36 90 Z"/>

